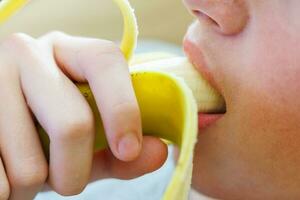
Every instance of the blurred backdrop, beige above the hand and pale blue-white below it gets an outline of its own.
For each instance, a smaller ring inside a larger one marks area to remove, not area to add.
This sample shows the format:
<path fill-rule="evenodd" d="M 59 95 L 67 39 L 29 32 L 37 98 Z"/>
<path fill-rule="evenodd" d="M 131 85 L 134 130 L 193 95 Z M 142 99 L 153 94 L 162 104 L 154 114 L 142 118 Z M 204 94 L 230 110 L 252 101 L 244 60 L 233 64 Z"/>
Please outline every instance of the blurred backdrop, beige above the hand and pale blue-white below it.
<path fill-rule="evenodd" d="M 139 52 L 163 50 L 182 54 L 182 38 L 192 17 L 181 1 L 130 0 L 138 18 Z M 38 37 L 53 30 L 119 41 L 123 20 L 112 0 L 31 0 L 1 25 L 0 40 L 15 32 Z M 131 181 L 103 180 L 91 184 L 76 197 L 64 198 L 47 192 L 39 194 L 36 200 L 99 199 L 95 194 L 110 200 L 160 199 L 174 169 L 172 158 L 170 151 L 160 170 Z"/>

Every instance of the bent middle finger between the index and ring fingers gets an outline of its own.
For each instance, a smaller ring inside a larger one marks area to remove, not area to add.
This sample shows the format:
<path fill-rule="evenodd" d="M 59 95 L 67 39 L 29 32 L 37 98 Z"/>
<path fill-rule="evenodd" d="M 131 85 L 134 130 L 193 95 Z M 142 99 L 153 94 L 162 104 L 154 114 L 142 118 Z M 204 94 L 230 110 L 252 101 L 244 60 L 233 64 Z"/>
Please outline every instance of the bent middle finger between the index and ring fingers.
<path fill-rule="evenodd" d="M 93 115 L 47 46 L 26 40 L 20 76 L 27 103 L 50 138 L 49 184 L 59 194 L 75 195 L 90 177 Z"/>

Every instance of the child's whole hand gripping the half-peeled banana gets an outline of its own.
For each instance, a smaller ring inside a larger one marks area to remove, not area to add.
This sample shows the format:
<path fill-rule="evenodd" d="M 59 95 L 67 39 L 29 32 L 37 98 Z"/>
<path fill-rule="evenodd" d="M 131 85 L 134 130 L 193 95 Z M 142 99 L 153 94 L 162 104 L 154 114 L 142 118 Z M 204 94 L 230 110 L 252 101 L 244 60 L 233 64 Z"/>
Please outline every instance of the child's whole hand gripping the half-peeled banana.
<path fill-rule="evenodd" d="M 164 162 L 166 146 L 142 137 L 128 66 L 112 42 L 14 34 L 1 44 L 0 67 L 1 200 L 32 199 L 46 179 L 74 195 L 90 179 L 133 178 Z M 90 84 L 112 153 L 93 154 L 93 114 L 71 80 Z M 33 115 L 51 140 L 49 165 Z"/>

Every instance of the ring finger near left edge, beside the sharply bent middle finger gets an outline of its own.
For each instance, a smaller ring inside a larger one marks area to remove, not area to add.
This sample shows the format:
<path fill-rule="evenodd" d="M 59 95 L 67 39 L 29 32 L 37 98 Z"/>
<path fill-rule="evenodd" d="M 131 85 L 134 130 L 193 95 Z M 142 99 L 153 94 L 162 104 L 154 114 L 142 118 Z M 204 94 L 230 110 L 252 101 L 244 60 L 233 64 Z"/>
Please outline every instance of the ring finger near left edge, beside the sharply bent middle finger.
<path fill-rule="evenodd" d="M 18 45 L 11 37 L 0 51 L 11 51 L 16 58 Z M 18 69 L 12 60 L 1 61 L 0 150 L 11 186 L 10 199 L 32 199 L 47 178 L 47 161 L 22 94 Z"/>

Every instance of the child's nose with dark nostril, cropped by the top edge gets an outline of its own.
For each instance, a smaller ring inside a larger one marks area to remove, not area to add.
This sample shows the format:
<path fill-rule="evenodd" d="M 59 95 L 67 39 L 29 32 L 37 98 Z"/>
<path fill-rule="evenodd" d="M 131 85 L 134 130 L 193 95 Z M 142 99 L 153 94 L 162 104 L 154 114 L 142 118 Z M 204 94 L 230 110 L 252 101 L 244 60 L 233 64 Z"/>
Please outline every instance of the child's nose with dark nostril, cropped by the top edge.
<path fill-rule="evenodd" d="M 248 22 L 245 0 L 184 0 L 184 3 L 200 21 L 225 35 L 238 34 Z"/>

